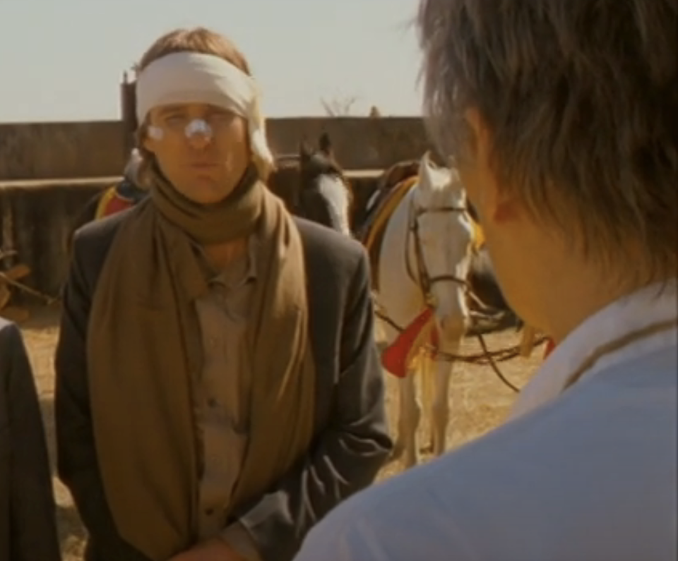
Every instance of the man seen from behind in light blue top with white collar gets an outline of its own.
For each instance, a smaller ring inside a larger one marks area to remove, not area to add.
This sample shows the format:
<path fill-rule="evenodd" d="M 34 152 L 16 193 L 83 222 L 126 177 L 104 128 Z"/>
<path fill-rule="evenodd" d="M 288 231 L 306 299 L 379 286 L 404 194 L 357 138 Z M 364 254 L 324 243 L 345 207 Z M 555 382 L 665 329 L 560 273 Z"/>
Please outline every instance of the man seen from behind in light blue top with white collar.
<path fill-rule="evenodd" d="M 423 0 L 432 135 L 557 346 L 509 421 L 365 490 L 297 561 L 675 561 L 678 2 Z"/>

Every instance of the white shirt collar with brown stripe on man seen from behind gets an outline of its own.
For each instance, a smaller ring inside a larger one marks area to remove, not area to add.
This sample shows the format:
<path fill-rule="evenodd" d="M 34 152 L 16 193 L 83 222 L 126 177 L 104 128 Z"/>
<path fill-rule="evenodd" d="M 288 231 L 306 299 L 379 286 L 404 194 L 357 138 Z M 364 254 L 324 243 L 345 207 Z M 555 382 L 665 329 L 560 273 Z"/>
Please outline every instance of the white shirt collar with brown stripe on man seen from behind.
<path fill-rule="evenodd" d="M 597 347 L 648 325 L 676 318 L 677 295 L 678 279 L 670 279 L 667 283 L 651 284 L 619 298 L 587 318 L 556 346 L 533 379 L 523 388 L 513 406 L 511 418 L 529 413 L 558 397 L 565 389 L 569 377 Z M 676 330 L 641 339 L 602 356 L 583 378 L 675 344 Z"/>

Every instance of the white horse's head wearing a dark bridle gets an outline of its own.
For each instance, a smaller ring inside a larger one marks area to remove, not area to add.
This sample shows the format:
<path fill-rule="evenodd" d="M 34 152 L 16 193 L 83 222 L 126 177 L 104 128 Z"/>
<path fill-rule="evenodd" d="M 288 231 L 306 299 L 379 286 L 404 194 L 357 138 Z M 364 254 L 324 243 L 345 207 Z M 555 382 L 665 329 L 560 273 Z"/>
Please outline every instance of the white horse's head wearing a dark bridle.
<path fill-rule="evenodd" d="M 468 327 L 465 281 L 472 229 L 456 170 L 436 167 L 428 153 L 420 161 L 411 221 L 417 273 L 424 291 L 433 298 L 441 340 L 457 340 Z"/>

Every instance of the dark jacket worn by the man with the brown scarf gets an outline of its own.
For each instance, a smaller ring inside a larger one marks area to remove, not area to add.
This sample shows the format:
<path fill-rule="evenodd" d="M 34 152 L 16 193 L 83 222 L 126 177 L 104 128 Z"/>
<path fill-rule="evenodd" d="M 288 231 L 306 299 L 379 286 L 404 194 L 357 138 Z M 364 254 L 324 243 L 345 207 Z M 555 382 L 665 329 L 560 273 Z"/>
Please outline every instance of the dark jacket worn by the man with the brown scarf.
<path fill-rule="evenodd" d="M 107 505 L 85 367 L 90 303 L 107 251 L 128 214 L 87 224 L 76 233 L 55 363 L 59 476 L 90 534 L 88 561 L 147 561 L 121 540 Z M 311 526 L 374 480 L 392 447 L 367 255 L 359 243 L 335 231 L 302 219 L 297 224 L 316 357 L 314 444 L 301 465 L 228 521 L 244 526 L 264 561 L 292 560 Z"/>

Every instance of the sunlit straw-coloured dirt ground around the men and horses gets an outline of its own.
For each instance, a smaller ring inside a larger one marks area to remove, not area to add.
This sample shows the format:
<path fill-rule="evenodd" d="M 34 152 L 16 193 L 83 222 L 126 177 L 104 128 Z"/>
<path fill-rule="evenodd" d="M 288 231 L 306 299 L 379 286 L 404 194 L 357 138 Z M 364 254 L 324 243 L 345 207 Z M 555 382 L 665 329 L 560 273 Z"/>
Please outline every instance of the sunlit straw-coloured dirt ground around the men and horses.
<path fill-rule="evenodd" d="M 35 370 L 37 388 L 40 394 L 44 423 L 47 428 L 49 452 L 54 465 L 54 344 L 57 339 L 57 310 L 33 310 L 32 318 L 22 325 L 32 366 Z M 507 332 L 492 334 L 487 338 L 489 349 L 503 349 L 518 343 L 518 334 Z M 463 343 L 461 352 L 471 354 L 480 351 L 474 340 Z M 542 350 L 537 349 L 532 357 L 515 358 L 500 365 L 501 371 L 515 385 L 521 387 L 540 363 Z M 396 419 L 398 402 L 395 379 L 389 377 L 388 413 L 391 426 Z M 457 363 L 453 370 L 450 390 L 451 418 L 448 426 L 448 448 L 453 449 L 468 440 L 477 438 L 497 426 L 505 418 L 516 394 L 504 386 L 492 373 L 489 366 L 473 366 Z M 421 430 L 427 430 L 423 423 Z M 380 478 L 393 476 L 401 471 L 398 462 L 392 462 L 383 469 Z M 52 471 L 54 473 L 54 470 Z M 85 532 L 73 507 L 71 497 L 54 476 L 57 495 L 59 536 L 64 550 L 64 561 L 81 561 Z"/>

